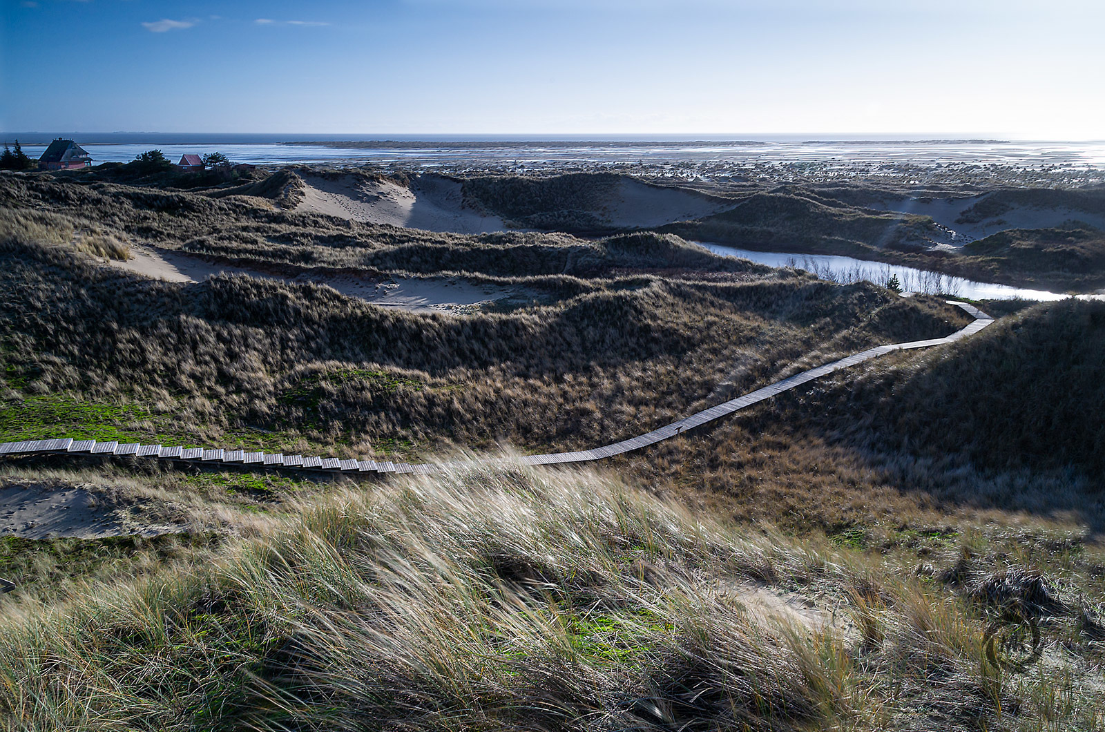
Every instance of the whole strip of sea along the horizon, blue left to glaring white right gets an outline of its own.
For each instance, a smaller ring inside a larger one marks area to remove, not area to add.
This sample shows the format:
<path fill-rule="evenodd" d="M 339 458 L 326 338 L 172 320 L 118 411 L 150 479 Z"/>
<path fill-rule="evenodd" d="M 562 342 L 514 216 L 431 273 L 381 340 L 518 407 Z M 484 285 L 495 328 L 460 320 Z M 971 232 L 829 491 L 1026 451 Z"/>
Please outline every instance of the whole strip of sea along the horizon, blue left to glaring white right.
<path fill-rule="evenodd" d="M 254 165 L 329 164 L 436 167 L 484 164 L 702 164 L 950 166 L 1105 169 L 1105 140 L 814 139 L 760 136 L 418 136 L 181 133 L 0 133 L 38 157 L 55 137 L 75 139 L 94 163 L 126 163 L 160 149 L 166 157 L 222 153 Z M 343 146 L 340 143 L 358 143 Z M 312 143 L 312 144 L 305 144 Z"/>

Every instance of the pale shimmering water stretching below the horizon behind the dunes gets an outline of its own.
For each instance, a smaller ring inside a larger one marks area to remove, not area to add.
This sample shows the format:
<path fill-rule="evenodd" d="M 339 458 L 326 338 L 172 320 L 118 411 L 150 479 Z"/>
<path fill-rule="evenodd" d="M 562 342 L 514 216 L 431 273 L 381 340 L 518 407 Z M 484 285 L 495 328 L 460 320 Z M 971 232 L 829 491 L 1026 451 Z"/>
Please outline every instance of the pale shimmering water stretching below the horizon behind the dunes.
<path fill-rule="evenodd" d="M 22 139 L 42 140 L 46 136 L 20 133 L 4 134 Z M 336 136 L 329 136 L 334 138 Z M 337 136 L 340 138 L 340 136 Z M 399 137 L 399 136 L 391 136 Z M 319 135 L 302 135 L 288 139 L 326 139 Z M 364 137 L 361 137 L 364 139 Z M 346 136 L 346 139 L 356 139 Z M 415 139 L 408 137 L 408 139 Z M 423 138 L 424 139 L 424 138 Z M 460 139 L 460 138 L 454 138 Z M 379 148 L 326 147 L 322 145 L 290 145 L 280 136 L 249 135 L 98 135 L 76 140 L 96 163 L 125 163 L 151 148 L 161 149 L 173 161 L 186 153 L 203 155 L 220 151 L 235 163 L 281 165 L 293 163 L 365 163 L 407 165 L 445 165 L 466 160 L 501 163 L 736 163 L 736 164 L 820 164 L 820 165 L 1055 165 L 1072 168 L 1105 168 L 1105 140 L 1090 143 L 1063 142 L 811 142 L 760 140 L 746 143 L 703 142 L 693 145 L 673 145 L 669 142 L 636 142 L 611 145 L 612 140 L 549 145 L 548 140 L 527 140 L 513 147 L 483 147 L 481 142 L 469 138 L 464 147 L 450 146 L 452 140 L 439 139 L 440 147 L 411 149 L 402 146 Z M 103 140 L 103 142 L 97 142 Z M 44 145 L 25 145 L 27 154 L 38 157 Z"/>

